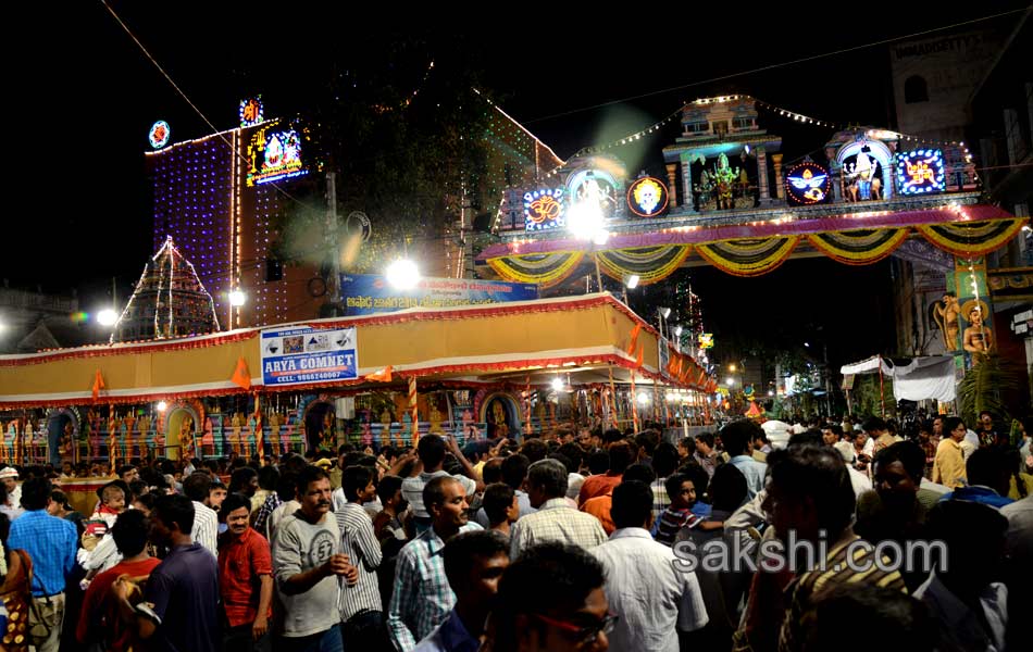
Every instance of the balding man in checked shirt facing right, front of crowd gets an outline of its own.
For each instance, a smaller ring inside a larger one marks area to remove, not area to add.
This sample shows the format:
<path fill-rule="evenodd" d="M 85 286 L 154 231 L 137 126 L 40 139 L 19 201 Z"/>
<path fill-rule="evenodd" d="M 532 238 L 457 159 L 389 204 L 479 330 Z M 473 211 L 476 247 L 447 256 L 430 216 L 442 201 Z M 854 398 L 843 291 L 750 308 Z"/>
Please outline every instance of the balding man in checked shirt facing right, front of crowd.
<path fill-rule="evenodd" d="M 565 482 L 565 469 L 563 479 Z M 387 616 L 387 628 L 398 652 L 415 648 L 416 641 L 445 622 L 456 605 L 456 594 L 445 575 L 445 542 L 458 532 L 482 529 L 476 523 L 469 523 L 466 491 L 456 478 L 433 478 L 423 488 L 422 498 L 431 514 L 431 528 L 398 553 L 395 589 Z"/>

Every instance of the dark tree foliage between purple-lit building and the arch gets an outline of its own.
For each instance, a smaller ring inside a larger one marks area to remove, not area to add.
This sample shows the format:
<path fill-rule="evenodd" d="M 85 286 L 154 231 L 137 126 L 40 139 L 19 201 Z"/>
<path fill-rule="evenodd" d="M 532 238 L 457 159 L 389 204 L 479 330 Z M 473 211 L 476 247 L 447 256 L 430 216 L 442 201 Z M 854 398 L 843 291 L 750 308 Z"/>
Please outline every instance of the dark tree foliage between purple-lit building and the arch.
<path fill-rule="evenodd" d="M 474 91 L 480 59 L 461 38 L 379 35 L 362 46 L 331 64 L 311 100 L 316 147 L 337 175 L 338 255 L 353 272 L 379 271 L 406 250 L 438 255 L 464 189 L 477 208 L 488 106 Z M 284 260 L 316 262 L 313 251 L 326 260 L 325 200 L 312 204 L 288 208 L 277 249 Z M 347 222 L 353 211 L 372 223 L 361 246 Z"/>

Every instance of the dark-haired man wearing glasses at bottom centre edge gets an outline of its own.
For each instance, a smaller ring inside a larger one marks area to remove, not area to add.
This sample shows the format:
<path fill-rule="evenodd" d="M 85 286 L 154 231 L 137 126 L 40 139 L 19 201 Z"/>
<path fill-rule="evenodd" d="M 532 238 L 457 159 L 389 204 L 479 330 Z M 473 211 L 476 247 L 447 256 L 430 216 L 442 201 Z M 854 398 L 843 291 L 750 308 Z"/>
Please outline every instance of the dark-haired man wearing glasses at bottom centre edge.
<path fill-rule="evenodd" d="M 602 565 L 577 546 L 543 543 L 510 564 L 488 625 L 493 652 L 603 652 L 610 614 Z"/>

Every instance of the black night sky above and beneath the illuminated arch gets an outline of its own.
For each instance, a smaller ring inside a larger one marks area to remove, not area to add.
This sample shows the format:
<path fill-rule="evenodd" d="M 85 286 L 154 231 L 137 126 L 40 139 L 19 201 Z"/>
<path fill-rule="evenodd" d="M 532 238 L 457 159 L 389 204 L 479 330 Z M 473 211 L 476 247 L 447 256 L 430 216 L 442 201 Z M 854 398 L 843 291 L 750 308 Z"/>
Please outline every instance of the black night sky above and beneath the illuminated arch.
<path fill-rule="evenodd" d="M 772 3 L 720 11 L 694 4 L 628 4 L 612 12 L 577 5 L 508 4 L 470 15 L 361 15 L 329 3 L 111 2 L 184 92 L 217 127 L 237 121 L 237 102 L 262 92 L 266 115 L 304 113 L 331 70 L 377 57 L 393 40 L 447 40 L 483 62 L 483 87 L 556 152 L 569 156 L 599 139 L 648 126 L 685 101 L 749 93 L 818 118 L 893 127 L 886 46 L 737 75 L 781 62 L 850 49 L 1024 5 L 872 3 L 804 7 Z M 375 11 L 362 5 L 363 12 Z M 247 9 L 245 9 L 247 8 Z M 242 10 L 242 11 L 241 11 Z M 498 12 L 505 10 L 505 13 Z M 18 3 L 4 42 L 8 217 L 0 276 L 14 287 L 66 293 L 83 308 L 100 303 L 116 277 L 129 290 L 151 249 L 147 131 L 155 120 L 174 141 L 211 133 L 99 1 Z M 1000 18 L 1013 23 L 1015 16 Z M 390 30 L 377 25 L 390 23 Z M 978 24 L 985 25 L 988 23 Z M 438 61 L 438 66 L 447 60 Z M 698 84 L 722 76 L 731 78 Z M 649 97 L 622 101 L 635 96 Z M 590 109 L 607 102 L 619 103 Z M 831 130 L 775 120 L 785 160 L 814 151 Z M 676 124 L 636 149 L 614 153 L 631 173 L 662 173 Z M 636 170 L 637 168 L 637 170 Z M 888 291 L 884 264 L 851 268 L 831 261 L 789 261 L 761 279 L 693 272 L 715 330 L 762 331 L 771 319 L 832 321 L 830 337 L 856 341 L 836 358 L 874 353 L 867 323 Z M 844 288 L 850 288 L 849 293 Z M 748 303 L 744 303 L 748 302 Z M 744 308 L 750 306 L 752 308 Z M 884 338 L 883 338 L 884 339 Z M 888 346 L 885 342 L 883 346 Z M 832 352 L 830 352 L 832 353 Z"/>

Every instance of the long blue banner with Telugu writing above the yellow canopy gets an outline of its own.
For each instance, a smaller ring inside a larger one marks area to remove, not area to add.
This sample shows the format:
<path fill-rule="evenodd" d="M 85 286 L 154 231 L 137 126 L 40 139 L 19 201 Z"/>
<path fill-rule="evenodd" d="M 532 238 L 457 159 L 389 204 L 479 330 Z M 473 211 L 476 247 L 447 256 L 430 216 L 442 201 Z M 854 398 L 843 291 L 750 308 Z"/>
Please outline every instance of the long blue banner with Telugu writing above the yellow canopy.
<path fill-rule="evenodd" d="M 340 302 L 346 314 L 369 315 L 407 308 L 485 305 L 538 298 L 533 283 L 502 283 L 475 278 L 422 278 L 411 290 L 393 288 L 375 274 L 341 274 Z"/>

